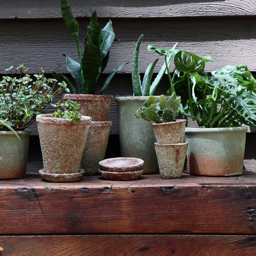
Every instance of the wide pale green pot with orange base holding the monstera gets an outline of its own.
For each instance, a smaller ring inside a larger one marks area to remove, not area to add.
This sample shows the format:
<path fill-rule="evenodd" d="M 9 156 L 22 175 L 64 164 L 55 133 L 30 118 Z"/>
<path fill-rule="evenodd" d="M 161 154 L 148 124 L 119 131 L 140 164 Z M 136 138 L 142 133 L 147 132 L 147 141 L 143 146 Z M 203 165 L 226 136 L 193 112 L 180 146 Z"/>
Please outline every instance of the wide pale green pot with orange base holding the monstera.
<path fill-rule="evenodd" d="M 247 127 L 186 127 L 189 173 L 231 176 L 243 173 Z"/>

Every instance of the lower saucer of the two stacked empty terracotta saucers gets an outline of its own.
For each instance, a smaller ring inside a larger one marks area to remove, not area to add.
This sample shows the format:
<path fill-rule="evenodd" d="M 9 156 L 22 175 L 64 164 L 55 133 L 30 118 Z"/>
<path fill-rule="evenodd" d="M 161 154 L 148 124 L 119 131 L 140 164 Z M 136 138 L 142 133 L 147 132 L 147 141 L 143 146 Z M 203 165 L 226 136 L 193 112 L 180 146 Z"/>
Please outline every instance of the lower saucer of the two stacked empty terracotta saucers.
<path fill-rule="evenodd" d="M 99 169 L 99 173 L 107 180 L 137 180 L 143 173 L 143 169 L 138 171 L 126 171 L 125 173 L 116 173 L 114 171 L 104 171 Z"/>

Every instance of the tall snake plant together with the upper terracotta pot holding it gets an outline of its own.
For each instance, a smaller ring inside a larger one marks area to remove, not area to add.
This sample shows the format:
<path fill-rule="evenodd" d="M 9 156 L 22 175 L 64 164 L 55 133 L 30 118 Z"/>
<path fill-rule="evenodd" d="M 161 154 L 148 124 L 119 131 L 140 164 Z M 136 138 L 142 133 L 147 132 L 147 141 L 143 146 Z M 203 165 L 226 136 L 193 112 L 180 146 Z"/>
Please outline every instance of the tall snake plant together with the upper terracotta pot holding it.
<path fill-rule="evenodd" d="M 64 101 L 68 99 L 76 101 L 80 104 L 81 114 L 91 116 L 93 121 L 106 121 L 109 117 L 113 96 L 101 95 L 101 93 L 109 86 L 115 73 L 126 65 L 125 63 L 115 68 L 106 78 L 99 95 L 96 95 L 97 82 L 107 66 L 110 47 L 115 40 L 112 22 L 109 21 L 101 29 L 96 11 L 93 11 L 85 36 L 85 48 L 82 52 L 79 39 L 79 23 L 73 16 L 70 4 L 66 0 L 61 0 L 61 12 L 71 35 L 76 40 L 79 62 L 63 54 L 66 57 L 67 70 L 75 79 L 76 85 L 73 86 L 66 76 L 55 71 L 52 71 L 52 75 L 57 80 L 65 81 L 71 92 L 74 93 L 63 95 Z"/>

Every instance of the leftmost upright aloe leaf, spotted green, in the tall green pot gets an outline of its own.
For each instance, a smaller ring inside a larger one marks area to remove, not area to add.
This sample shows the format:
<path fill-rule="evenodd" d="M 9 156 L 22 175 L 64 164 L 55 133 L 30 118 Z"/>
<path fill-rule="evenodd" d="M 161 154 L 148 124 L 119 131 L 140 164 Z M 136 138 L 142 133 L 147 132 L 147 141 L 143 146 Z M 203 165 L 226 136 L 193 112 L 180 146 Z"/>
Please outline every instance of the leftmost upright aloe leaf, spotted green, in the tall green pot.
<path fill-rule="evenodd" d="M 139 50 L 140 50 L 142 37 L 143 37 L 143 34 L 139 37 L 139 40 L 137 41 L 137 44 L 134 50 L 134 56 L 132 58 L 131 78 L 132 78 L 132 90 L 134 91 L 134 96 L 142 96 L 139 63 L 138 63 Z"/>

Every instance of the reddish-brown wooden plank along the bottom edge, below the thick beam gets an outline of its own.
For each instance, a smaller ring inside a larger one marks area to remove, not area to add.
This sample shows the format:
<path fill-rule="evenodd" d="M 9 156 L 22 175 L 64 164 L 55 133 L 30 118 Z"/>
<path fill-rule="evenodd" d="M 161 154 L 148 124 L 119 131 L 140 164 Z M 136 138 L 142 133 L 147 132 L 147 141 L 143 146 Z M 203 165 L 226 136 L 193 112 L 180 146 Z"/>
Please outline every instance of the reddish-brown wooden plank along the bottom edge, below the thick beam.
<path fill-rule="evenodd" d="M 1 236 L 1 256 L 255 255 L 255 235 Z"/>

